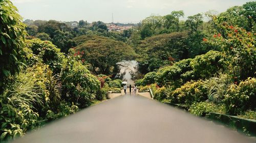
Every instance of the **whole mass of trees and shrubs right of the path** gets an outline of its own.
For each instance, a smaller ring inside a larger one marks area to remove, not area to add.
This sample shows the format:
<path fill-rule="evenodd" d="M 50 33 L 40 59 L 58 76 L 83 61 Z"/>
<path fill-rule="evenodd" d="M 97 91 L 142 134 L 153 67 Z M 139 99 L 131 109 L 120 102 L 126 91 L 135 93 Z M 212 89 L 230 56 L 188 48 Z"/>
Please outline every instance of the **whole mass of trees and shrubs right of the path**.
<path fill-rule="evenodd" d="M 151 88 L 155 99 L 186 106 L 198 116 L 219 112 L 256 119 L 255 6 L 248 2 L 218 15 L 209 11 L 207 22 L 202 14 L 189 16 L 178 22 L 182 39 L 168 38 L 178 44 L 164 41 L 178 34 L 173 33 L 175 22 L 169 25 L 174 15 L 146 18 L 132 36 L 142 39 L 132 39 L 144 74 L 136 84 L 142 91 Z"/>

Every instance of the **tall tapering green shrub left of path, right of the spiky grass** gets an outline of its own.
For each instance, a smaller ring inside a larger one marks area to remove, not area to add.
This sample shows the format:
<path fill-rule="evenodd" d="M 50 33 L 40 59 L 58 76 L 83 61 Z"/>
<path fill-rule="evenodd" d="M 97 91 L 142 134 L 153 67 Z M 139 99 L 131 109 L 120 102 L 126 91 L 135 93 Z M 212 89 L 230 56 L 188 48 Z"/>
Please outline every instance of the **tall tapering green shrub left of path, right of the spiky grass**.
<path fill-rule="evenodd" d="M 70 54 L 62 65 L 62 98 L 70 103 L 74 102 L 78 107 L 91 105 L 95 94 L 100 90 L 100 81 L 76 60 L 73 49 L 70 49 Z"/>

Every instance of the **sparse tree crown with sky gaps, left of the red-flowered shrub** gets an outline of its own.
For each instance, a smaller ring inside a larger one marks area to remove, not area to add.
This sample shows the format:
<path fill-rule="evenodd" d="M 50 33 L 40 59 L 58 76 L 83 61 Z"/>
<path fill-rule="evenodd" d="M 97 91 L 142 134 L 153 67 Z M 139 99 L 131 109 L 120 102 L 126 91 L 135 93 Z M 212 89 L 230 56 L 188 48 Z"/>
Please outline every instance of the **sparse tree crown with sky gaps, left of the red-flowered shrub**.
<path fill-rule="evenodd" d="M 203 23 L 203 15 L 198 13 L 193 16 L 188 16 L 185 22 L 186 26 L 190 29 L 190 32 L 197 32 L 199 26 Z"/>

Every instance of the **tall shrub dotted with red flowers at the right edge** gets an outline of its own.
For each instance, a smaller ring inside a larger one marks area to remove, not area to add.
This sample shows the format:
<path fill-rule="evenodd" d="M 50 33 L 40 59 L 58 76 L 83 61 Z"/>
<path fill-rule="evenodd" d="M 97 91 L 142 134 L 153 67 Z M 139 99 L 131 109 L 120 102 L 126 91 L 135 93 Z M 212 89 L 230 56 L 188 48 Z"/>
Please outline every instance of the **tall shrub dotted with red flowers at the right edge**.
<path fill-rule="evenodd" d="M 223 58 L 226 59 L 226 65 L 232 76 L 238 77 L 238 80 L 254 77 L 256 64 L 255 34 L 247 32 L 244 28 L 228 25 L 223 19 L 225 18 L 217 17 L 214 19 L 215 24 L 221 27 L 222 33 L 218 36 L 215 35 L 209 40 L 209 43 L 223 50 Z M 244 24 L 244 22 L 242 23 Z"/>

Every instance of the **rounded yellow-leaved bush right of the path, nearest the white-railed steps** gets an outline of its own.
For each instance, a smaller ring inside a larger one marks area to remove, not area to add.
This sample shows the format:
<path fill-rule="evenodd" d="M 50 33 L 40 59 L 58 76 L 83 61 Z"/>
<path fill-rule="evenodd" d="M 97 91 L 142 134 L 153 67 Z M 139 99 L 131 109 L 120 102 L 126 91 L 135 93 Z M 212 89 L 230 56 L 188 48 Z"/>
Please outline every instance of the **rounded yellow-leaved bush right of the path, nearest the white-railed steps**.
<path fill-rule="evenodd" d="M 190 81 L 170 93 L 170 102 L 191 105 L 207 99 L 206 88 L 202 80 Z"/>

